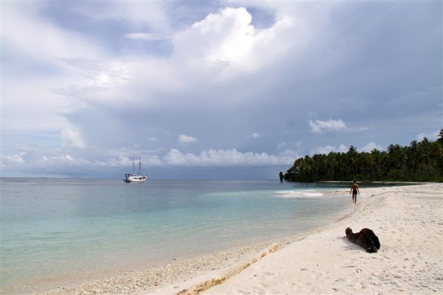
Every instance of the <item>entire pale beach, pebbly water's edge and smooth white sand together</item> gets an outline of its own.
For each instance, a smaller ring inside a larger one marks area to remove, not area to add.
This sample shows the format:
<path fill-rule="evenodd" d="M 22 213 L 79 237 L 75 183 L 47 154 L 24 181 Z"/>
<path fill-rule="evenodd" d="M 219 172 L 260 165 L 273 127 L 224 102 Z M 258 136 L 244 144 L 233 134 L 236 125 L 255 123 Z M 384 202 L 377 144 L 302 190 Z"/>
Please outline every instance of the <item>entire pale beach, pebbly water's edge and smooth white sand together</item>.
<path fill-rule="evenodd" d="M 46 294 L 194 294 L 202 283 L 204 294 L 442 294 L 442 209 L 443 184 L 361 188 L 352 212 L 320 229 Z M 372 229 L 379 251 L 349 242 L 346 227 Z"/>

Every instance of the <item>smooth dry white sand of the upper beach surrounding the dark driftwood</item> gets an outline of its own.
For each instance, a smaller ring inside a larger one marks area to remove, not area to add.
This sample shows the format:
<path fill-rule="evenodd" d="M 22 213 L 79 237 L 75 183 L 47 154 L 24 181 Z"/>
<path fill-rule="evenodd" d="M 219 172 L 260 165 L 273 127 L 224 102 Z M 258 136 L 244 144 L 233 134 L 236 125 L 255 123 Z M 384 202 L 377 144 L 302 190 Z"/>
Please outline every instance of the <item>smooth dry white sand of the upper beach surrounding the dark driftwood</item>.
<path fill-rule="evenodd" d="M 372 229 L 381 248 L 367 253 L 345 238 L 346 227 L 354 232 Z M 204 293 L 443 294 L 442 258 L 443 184 L 362 188 L 352 215 L 265 256 Z M 156 293 L 191 290 L 220 275 L 208 273 Z"/>

